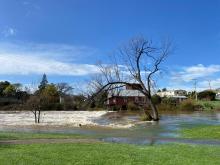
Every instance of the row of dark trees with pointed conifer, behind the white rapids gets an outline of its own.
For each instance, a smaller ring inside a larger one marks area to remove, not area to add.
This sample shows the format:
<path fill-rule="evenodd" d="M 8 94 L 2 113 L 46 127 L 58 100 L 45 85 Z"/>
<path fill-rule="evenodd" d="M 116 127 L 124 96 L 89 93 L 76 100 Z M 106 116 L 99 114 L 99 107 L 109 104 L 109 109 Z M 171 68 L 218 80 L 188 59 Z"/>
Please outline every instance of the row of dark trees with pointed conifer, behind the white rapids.
<path fill-rule="evenodd" d="M 74 94 L 68 83 L 49 83 L 43 75 L 37 90 L 22 88 L 22 85 L 0 82 L 0 110 L 86 110 L 104 104 L 92 102 L 87 104 L 85 94 Z"/>

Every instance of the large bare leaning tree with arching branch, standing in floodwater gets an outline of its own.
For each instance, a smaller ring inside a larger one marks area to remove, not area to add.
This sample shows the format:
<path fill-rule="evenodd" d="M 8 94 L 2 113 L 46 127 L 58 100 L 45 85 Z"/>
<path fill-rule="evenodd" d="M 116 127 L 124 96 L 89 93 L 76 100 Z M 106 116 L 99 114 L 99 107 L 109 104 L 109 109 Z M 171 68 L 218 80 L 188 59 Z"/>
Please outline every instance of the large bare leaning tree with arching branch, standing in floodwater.
<path fill-rule="evenodd" d="M 99 65 L 102 80 L 99 79 L 98 91 L 94 96 L 104 90 L 129 85 L 131 82 L 139 83 L 141 88 L 137 90 L 145 96 L 151 109 L 145 110 L 145 114 L 151 120 L 159 120 L 157 107 L 152 101 L 152 89 L 155 78 L 162 70 L 161 64 L 170 53 L 171 43 L 168 41 L 155 45 L 144 37 L 130 40 L 112 57 L 112 65 Z"/>

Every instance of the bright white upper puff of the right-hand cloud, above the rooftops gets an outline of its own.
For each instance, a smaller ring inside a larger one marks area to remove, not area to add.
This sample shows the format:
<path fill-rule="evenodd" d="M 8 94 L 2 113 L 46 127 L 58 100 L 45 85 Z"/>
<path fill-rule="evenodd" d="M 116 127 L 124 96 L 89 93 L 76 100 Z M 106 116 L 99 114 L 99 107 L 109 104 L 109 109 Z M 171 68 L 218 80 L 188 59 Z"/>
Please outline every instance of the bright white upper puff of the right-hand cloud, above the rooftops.
<path fill-rule="evenodd" d="M 206 78 L 219 72 L 220 65 L 204 66 L 202 64 L 198 64 L 195 66 L 184 67 L 180 72 L 173 72 L 171 75 L 171 80 L 190 82 L 193 79 Z"/>

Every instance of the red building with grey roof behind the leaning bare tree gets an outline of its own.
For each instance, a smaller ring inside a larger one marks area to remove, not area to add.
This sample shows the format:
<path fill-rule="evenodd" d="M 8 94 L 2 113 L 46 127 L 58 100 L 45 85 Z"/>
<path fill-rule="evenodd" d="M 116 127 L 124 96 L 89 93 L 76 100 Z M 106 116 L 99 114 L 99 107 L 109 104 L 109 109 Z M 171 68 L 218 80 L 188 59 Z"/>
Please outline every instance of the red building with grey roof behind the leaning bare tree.
<path fill-rule="evenodd" d="M 120 109 L 127 109 L 128 103 L 133 103 L 137 106 L 144 106 L 147 100 L 143 93 L 139 90 L 141 89 L 140 84 L 127 84 L 125 89 L 112 90 L 108 93 L 107 106 L 118 107 Z"/>

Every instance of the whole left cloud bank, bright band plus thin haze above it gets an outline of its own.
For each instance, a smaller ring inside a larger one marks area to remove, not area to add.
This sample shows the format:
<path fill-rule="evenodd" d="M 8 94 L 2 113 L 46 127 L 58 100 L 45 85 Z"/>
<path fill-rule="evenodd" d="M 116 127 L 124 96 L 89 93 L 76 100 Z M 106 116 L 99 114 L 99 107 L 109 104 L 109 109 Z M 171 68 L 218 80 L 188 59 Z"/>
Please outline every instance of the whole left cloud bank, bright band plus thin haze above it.
<path fill-rule="evenodd" d="M 89 52 L 89 53 L 88 53 Z M 77 56 L 91 54 L 91 49 L 64 44 L 0 43 L 0 74 L 42 74 L 84 76 L 98 72 L 92 64 L 80 64 Z M 94 52 L 94 51 L 93 51 Z M 79 57 L 80 59 L 80 57 Z"/>

